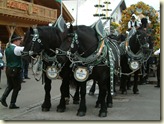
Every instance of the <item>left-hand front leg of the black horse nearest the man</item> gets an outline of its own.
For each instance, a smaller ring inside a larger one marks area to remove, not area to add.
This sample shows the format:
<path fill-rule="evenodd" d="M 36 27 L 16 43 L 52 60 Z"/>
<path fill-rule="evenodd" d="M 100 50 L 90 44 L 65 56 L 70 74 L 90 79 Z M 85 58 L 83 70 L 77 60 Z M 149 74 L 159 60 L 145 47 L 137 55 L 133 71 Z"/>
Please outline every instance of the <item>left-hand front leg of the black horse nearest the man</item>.
<path fill-rule="evenodd" d="M 45 90 L 45 97 L 44 97 L 44 102 L 42 104 L 42 111 L 49 111 L 51 108 L 51 80 L 45 76 L 45 85 L 44 85 L 44 90 Z"/>

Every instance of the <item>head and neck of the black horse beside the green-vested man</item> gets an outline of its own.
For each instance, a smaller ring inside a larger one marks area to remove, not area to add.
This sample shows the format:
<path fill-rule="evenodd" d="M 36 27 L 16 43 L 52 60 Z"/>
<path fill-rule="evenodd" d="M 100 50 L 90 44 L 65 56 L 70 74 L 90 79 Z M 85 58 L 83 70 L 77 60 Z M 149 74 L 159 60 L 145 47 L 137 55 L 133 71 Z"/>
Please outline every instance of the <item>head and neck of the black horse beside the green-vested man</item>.
<path fill-rule="evenodd" d="M 24 37 L 23 55 L 36 56 L 42 51 L 52 54 L 63 41 L 63 33 L 56 27 L 38 26 L 30 28 Z"/>

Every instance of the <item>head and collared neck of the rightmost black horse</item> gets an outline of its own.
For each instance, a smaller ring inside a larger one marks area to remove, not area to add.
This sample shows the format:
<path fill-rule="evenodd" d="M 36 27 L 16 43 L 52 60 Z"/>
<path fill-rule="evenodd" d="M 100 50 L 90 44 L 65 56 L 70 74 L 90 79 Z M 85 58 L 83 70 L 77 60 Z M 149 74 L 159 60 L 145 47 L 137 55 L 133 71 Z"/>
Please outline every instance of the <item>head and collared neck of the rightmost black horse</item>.
<path fill-rule="evenodd" d="M 145 30 L 136 30 L 124 43 L 125 53 L 130 60 L 143 63 L 152 54 L 152 44 Z"/>

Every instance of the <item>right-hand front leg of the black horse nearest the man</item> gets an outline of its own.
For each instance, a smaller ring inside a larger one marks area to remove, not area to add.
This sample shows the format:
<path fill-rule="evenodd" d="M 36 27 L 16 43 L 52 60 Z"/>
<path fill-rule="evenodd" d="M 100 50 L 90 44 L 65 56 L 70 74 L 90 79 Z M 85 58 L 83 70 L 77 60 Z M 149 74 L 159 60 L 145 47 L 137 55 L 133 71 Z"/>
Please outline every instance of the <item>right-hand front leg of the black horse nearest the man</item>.
<path fill-rule="evenodd" d="M 57 106 L 57 112 L 64 112 L 66 109 L 67 100 L 69 99 L 69 80 L 68 78 L 63 78 L 62 84 L 60 86 L 61 98 L 59 105 Z"/>

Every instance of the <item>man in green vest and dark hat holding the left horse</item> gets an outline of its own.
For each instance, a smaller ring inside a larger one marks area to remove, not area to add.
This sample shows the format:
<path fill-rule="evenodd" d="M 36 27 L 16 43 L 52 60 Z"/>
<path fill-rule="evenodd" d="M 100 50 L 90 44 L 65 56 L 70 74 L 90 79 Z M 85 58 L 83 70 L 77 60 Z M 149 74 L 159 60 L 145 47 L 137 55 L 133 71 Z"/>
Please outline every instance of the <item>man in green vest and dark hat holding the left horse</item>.
<path fill-rule="evenodd" d="M 6 103 L 6 98 L 13 90 L 9 109 L 19 108 L 18 106 L 16 106 L 16 100 L 18 93 L 21 90 L 21 52 L 24 49 L 24 47 L 20 46 L 21 39 L 22 38 L 20 36 L 13 34 L 11 37 L 11 43 L 9 42 L 8 46 L 5 49 L 7 88 L 5 89 L 0 102 L 3 106 L 8 107 Z"/>

